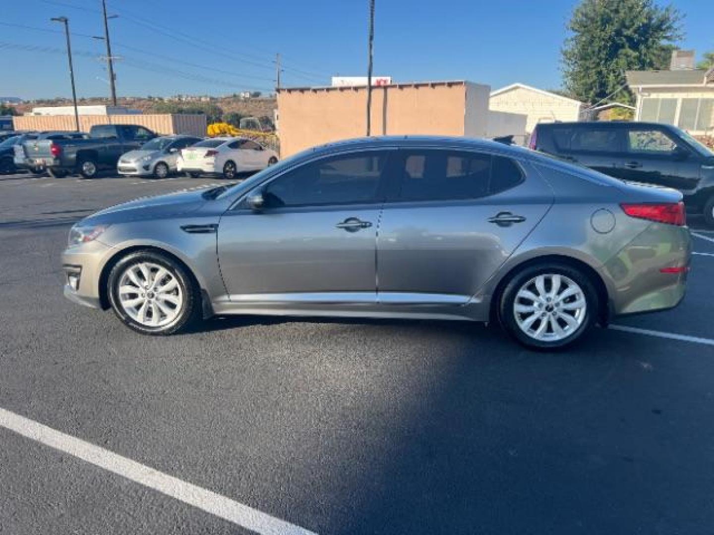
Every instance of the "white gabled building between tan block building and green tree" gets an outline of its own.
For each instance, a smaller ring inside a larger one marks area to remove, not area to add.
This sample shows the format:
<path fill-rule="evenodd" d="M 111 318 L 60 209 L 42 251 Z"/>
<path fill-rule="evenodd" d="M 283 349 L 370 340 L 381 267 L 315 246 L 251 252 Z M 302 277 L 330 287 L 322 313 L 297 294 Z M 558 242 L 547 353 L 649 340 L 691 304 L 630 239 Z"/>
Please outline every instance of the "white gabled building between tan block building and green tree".
<path fill-rule="evenodd" d="M 579 102 L 558 95 L 516 86 L 491 96 L 490 109 L 526 115 L 526 133 L 530 134 L 538 123 L 578 121 L 581 106 Z"/>

